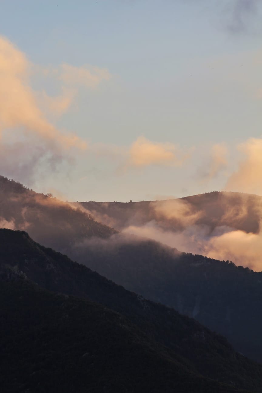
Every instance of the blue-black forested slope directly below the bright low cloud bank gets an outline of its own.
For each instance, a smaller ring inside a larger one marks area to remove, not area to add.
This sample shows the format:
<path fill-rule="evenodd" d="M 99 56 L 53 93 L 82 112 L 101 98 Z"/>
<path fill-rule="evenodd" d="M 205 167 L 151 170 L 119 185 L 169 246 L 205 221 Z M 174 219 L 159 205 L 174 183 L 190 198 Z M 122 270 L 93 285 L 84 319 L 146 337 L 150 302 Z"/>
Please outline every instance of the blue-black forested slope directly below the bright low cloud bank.
<path fill-rule="evenodd" d="M 147 299 L 196 318 L 262 362 L 262 272 L 169 248 L 163 252 L 154 242 L 151 254 L 148 248 L 122 244 L 115 253 L 94 251 L 78 260 Z"/>

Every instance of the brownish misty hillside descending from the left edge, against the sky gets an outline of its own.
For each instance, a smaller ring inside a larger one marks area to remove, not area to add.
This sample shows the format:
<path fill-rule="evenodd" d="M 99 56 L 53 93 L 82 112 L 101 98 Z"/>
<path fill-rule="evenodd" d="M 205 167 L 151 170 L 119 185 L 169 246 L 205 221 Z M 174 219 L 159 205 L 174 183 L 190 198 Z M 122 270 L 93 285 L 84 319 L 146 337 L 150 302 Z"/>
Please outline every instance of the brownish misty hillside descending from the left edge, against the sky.
<path fill-rule="evenodd" d="M 66 202 L 35 193 L 20 183 L 0 176 L 0 226 L 26 229 L 46 246 L 67 250 L 75 241 L 115 231 L 93 220 Z"/>

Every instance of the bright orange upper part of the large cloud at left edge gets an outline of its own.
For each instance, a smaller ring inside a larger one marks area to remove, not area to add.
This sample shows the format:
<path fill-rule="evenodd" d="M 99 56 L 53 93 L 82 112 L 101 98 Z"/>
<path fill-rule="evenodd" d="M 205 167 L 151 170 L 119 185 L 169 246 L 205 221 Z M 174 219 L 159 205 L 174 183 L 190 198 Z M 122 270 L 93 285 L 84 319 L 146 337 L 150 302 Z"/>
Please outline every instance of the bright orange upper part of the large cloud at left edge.
<path fill-rule="evenodd" d="M 49 123 L 37 105 L 29 81 L 30 63 L 24 53 L 0 37 L 0 127 L 23 127 L 25 132 L 40 136 L 53 149 L 86 147 L 86 142 L 73 134 L 63 134 Z"/>

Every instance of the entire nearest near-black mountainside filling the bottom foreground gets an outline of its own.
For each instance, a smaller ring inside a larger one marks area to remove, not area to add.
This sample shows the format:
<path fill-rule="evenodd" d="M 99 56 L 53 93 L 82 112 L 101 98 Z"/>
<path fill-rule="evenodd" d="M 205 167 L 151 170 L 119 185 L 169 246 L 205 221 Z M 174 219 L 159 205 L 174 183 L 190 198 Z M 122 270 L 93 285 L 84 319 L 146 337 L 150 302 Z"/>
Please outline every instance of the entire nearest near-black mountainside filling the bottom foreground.
<path fill-rule="evenodd" d="M 5 391 L 70 392 L 75 384 L 73 391 L 90 392 L 260 391 L 262 365 L 225 338 L 40 246 L 24 231 L 0 230 L 0 276 Z M 84 387 L 98 375 L 103 386 Z"/>

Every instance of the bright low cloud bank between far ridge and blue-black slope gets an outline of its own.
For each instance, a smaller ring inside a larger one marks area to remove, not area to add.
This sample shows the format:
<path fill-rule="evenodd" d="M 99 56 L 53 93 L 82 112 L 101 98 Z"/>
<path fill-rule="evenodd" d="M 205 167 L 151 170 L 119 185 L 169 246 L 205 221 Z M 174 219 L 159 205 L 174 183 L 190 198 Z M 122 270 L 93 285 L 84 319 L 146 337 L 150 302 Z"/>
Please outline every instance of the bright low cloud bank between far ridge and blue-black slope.
<path fill-rule="evenodd" d="M 163 230 L 155 221 L 143 226 L 129 226 L 123 233 L 159 241 L 179 251 L 205 255 L 220 261 L 233 261 L 261 271 L 262 233 L 246 233 L 226 226 L 216 227 L 213 234 L 205 225 L 193 225 L 183 231 Z"/>

